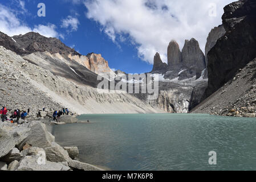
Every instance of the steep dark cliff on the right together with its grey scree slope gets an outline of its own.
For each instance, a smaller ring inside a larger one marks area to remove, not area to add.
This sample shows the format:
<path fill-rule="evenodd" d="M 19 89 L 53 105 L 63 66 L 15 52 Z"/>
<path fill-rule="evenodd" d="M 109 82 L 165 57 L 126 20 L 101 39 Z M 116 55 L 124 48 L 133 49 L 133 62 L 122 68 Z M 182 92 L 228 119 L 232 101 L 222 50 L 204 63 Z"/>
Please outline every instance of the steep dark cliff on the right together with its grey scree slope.
<path fill-rule="evenodd" d="M 256 2 L 233 2 L 224 11 L 226 33 L 208 53 L 209 97 L 192 112 L 255 117 Z"/>

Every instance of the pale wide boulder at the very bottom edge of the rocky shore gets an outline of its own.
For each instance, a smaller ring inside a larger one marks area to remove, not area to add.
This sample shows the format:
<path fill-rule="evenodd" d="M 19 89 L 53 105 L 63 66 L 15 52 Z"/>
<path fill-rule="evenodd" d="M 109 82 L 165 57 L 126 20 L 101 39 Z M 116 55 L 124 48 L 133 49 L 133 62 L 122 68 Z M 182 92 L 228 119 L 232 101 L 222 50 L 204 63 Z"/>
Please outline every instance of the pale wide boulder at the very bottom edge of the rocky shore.
<path fill-rule="evenodd" d="M 54 163 L 46 160 L 45 164 L 38 163 L 38 156 L 25 156 L 19 162 L 18 171 L 69 171 L 70 168 L 62 163 Z"/>

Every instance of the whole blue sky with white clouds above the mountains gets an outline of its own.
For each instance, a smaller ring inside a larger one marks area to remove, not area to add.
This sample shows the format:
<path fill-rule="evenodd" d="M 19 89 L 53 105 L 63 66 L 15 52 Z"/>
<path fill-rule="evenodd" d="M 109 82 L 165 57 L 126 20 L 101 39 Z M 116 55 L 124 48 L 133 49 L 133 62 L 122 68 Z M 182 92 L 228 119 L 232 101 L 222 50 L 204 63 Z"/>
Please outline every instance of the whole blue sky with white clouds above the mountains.
<path fill-rule="evenodd" d="M 37 31 L 83 55 L 101 53 L 110 68 L 143 73 L 151 71 L 156 52 L 167 61 L 172 39 L 182 49 L 185 39 L 196 38 L 204 52 L 211 28 L 221 24 L 223 7 L 232 1 L 212 2 L 1 0 L 0 31 L 10 36 Z M 38 3 L 46 5 L 46 17 L 37 15 Z"/>

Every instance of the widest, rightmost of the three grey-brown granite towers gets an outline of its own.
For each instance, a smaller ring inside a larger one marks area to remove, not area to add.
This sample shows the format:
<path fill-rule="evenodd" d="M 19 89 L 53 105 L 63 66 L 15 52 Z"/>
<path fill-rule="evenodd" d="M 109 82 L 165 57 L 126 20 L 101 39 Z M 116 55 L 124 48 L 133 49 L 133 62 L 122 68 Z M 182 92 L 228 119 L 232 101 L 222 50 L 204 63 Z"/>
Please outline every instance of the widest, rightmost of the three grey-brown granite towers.
<path fill-rule="evenodd" d="M 205 69 L 205 55 L 196 39 L 185 40 L 181 55 L 185 68 L 196 68 L 198 71 Z"/>

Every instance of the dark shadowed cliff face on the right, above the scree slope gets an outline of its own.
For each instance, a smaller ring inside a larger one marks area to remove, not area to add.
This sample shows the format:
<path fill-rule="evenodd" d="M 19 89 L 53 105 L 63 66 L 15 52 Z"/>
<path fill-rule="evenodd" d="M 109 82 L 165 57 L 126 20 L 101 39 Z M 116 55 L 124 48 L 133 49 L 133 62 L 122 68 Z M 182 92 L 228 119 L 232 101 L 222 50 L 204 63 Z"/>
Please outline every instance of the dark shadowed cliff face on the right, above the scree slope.
<path fill-rule="evenodd" d="M 209 86 L 205 98 L 256 57 L 256 1 L 233 2 L 224 12 L 222 23 L 226 34 L 208 53 Z"/>

